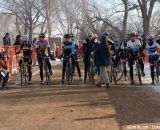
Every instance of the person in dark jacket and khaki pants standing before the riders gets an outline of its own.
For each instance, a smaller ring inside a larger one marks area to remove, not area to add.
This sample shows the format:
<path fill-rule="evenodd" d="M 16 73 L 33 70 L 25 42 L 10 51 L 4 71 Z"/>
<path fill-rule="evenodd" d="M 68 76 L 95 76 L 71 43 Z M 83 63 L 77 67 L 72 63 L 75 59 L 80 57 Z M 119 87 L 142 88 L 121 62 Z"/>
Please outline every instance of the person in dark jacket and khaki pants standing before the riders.
<path fill-rule="evenodd" d="M 111 52 L 105 32 L 102 34 L 100 43 L 95 48 L 95 57 L 96 66 L 100 68 L 100 80 L 97 86 L 101 87 L 103 81 L 106 87 L 109 87 L 107 67 L 111 65 Z"/>

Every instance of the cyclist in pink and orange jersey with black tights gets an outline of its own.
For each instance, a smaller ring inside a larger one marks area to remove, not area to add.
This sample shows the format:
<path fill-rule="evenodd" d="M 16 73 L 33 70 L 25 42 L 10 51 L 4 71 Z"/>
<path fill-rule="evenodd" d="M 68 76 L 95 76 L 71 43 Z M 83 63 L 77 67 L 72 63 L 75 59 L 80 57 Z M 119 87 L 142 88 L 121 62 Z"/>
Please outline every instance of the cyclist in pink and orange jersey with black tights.
<path fill-rule="evenodd" d="M 39 39 L 36 41 L 36 53 L 37 53 L 37 59 L 38 59 L 38 64 L 40 68 L 40 78 L 41 78 L 41 84 L 43 84 L 43 57 L 46 57 L 46 63 L 50 72 L 50 75 L 52 75 L 52 68 L 51 68 L 51 63 L 49 61 L 49 58 L 53 58 L 54 56 L 51 55 L 50 52 L 50 45 L 48 40 L 45 40 L 45 33 L 40 33 L 39 34 Z M 48 56 L 46 54 L 46 51 L 48 51 Z"/>

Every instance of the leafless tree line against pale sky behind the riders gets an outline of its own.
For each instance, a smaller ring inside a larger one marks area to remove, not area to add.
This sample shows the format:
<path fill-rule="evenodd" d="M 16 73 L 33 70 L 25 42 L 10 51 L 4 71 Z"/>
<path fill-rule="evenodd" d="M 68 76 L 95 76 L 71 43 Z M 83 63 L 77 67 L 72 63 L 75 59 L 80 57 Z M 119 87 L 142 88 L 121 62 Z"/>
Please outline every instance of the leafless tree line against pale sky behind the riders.
<path fill-rule="evenodd" d="M 4 32 L 28 34 L 30 40 L 34 33 L 43 31 L 50 37 L 56 30 L 81 38 L 87 31 L 104 30 L 116 37 L 132 29 L 148 35 L 160 31 L 157 5 L 159 0 L 1 0 L 0 26 Z"/>

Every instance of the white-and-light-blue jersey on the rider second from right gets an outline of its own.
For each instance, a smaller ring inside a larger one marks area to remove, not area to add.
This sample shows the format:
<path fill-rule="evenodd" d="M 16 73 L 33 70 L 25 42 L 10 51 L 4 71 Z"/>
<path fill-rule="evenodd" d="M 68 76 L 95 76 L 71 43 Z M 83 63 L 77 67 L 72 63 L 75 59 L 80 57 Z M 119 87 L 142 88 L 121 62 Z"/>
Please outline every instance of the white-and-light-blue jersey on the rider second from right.
<path fill-rule="evenodd" d="M 127 42 L 127 48 L 132 49 L 134 53 L 138 52 L 140 47 L 141 42 L 138 39 L 136 39 L 134 42 L 132 42 L 131 40 Z"/>

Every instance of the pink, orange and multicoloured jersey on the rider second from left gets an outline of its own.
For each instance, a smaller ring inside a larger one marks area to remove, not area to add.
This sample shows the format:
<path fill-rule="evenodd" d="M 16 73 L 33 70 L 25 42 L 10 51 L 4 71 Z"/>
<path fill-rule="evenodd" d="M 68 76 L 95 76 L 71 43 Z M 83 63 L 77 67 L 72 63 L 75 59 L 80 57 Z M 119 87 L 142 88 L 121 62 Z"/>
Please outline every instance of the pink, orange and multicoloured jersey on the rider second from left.
<path fill-rule="evenodd" d="M 39 50 L 38 53 L 39 53 L 39 54 L 44 55 L 44 54 L 46 53 L 46 49 L 47 49 L 48 47 L 50 47 L 50 45 L 49 45 L 48 40 L 44 40 L 44 41 L 38 40 L 38 41 L 36 42 L 35 47 L 38 48 L 38 50 Z"/>

